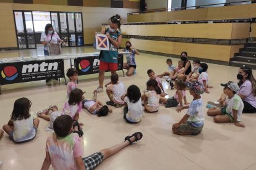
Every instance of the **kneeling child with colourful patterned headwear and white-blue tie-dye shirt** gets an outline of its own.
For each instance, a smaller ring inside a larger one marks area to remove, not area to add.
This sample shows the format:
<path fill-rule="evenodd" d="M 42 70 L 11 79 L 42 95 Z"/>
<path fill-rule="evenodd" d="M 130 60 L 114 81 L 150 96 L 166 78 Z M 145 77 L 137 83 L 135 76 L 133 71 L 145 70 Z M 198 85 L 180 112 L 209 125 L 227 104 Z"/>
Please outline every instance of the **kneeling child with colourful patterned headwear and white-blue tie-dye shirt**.
<path fill-rule="evenodd" d="M 203 129 L 204 113 L 203 113 L 203 100 L 200 94 L 205 92 L 203 84 L 198 81 L 186 82 L 186 86 L 189 88 L 190 95 L 193 96 L 193 100 L 190 105 L 177 108 L 176 111 L 180 112 L 184 108 L 189 108 L 187 114 L 178 122 L 173 124 L 173 133 L 178 135 L 197 135 Z"/>

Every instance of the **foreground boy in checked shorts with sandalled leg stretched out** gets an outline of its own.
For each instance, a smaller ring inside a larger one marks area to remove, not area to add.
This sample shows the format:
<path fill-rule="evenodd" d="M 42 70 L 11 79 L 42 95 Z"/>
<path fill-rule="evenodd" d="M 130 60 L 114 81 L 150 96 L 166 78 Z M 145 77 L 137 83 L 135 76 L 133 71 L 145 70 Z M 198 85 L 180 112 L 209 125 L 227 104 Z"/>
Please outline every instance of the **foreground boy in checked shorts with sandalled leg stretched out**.
<path fill-rule="evenodd" d="M 72 127 L 70 116 L 59 116 L 53 127 L 54 133 L 46 140 L 46 156 L 41 169 L 49 169 L 51 164 L 54 169 L 95 169 L 101 161 L 143 137 L 141 132 L 135 132 L 132 136 L 127 136 L 121 144 L 82 158 L 83 147 L 79 136 L 72 133 L 77 126 Z"/>

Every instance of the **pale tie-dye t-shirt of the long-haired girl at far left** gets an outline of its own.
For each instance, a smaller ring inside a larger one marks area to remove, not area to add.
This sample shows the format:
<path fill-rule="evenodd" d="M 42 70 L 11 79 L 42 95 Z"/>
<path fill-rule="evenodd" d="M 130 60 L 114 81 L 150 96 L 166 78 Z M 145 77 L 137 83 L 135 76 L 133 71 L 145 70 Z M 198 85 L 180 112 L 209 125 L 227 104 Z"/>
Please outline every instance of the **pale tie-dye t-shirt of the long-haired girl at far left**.
<path fill-rule="evenodd" d="M 12 121 L 14 123 L 13 138 L 15 142 L 32 139 L 36 135 L 34 128 L 35 115 L 30 111 L 30 117 L 22 120 Z"/>

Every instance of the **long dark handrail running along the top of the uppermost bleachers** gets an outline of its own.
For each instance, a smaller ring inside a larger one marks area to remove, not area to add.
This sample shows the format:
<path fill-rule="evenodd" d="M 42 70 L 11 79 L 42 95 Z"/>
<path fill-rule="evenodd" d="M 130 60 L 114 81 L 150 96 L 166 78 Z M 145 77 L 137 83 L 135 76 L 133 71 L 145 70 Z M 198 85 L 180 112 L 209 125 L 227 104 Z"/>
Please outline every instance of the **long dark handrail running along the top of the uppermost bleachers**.
<path fill-rule="evenodd" d="M 133 15 L 133 14 L 145 14 L 145 13 L 150 13 L 150 12 L 166 12 L 169 10 L 184 10 L 187 8 L 200 8 L 200 7 L 205 7 L 205 6 L 216 6 L 216 5 L 231 5 L 231 4 L 235 4 L 235 3 L 239 3 L 239 2 L 256 2 L 256 0 L 251 0 L 251 1 L 236 1 L 236 2 L 225 2 L 225 3 L 218 3 L 218 4 L 208 4 L 208 5 L 203 5 L 203 6 L 189 6 L 189 7 L 176 7 L 176 8 L 169 8 L 169 9 L 156 9 L 156 10 L 147 10 L 147 11 L 140 11 L 140 12 L 129 12 L 127 13 L 127 15 Z"/>

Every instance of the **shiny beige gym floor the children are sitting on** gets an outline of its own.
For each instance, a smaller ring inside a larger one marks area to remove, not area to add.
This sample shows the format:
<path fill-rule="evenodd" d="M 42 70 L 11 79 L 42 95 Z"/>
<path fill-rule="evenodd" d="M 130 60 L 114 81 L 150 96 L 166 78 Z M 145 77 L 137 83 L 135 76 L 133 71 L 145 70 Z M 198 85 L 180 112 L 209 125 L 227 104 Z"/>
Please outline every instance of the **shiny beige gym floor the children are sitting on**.
<path fill-rule="evenodd" d="M 93 51 L 95 50 L 92 47 L 62 49 L 64 54 Z M 43 55 L 43 50 L 38 48 L 0 52 L 0 58 L 28 55 Z M 137 74 L 122 77 L 122 72 L 118 71 L 119 81 L 126 88 L 136 84 L 143 91 L 148 80 L 147 70 L 151 68 L 156 74 L 166 71 L 166 59 L 167 57 L 159 55 L 137 55 Z M 174 65 L 177 65 L 177 61 L 178 59 L 173 59 Z M 69 66 L 67 60 L 65 66 Z M 203 103 L 206 105 L 208 100 L 218 99 L 223 91 L 220 83 L 237 81 L 237 71 L 236 67 L 209 63 L 209 84 L 213 89 L 210 89 L 210 94 L 202 95 Z M 109 75 L 106 73 L 105 83 L 108 83 Z M 254 75 L 256 76 L 255 71 Z M 85 98 L 90 99 L 93 90 L 98 86 L 98 75 L 79 77 L 78 86 L 87 91 Z M 175 91 L 167 89 L 168 84 L 164 80 L 163 86 L 170 96 L 174 95 Z M 31 110 L 35 113 L 53 104 L 62 109 L 66 100 L 64 79 L 60 83 L 45 84 L 45 81 L 35 81 L 5 85 L 1 88 L 0 126 L 7 123 L 14 101 L 20 97 L 27 97 L 32 101 Z M 101 92 L 98 98 L 103 103 L 108 101 L 105 92 Z M 192 100 L 189 92 L 187 99 L 189 102 Z M 113 108 L 113 113 L 106 117 L 93 116 L 83 110 L 79 120 L 85 124 L 84 156 L 122 142 L 125 136 L 141 131 L 142 140 L 103 161 L 96 169 L 256 169 L 256 114 L 242 115 L 245 128 L 236 127 L 232 123 L 217 124 L 212 117 L 205 115 L 202 133 L 198 136 L 177 136 L 171 132 L 171 126 L 186 114 L 186 110 L 176 113 L 175 109 L 161 105 L 158 113 L 144 113 L 139 124 L 127 124 L 122 118 L 122 108 Z M 206 113 L 207 108 L 204 111 Z M 4 165 L 0 169 L 40 169 L 45 158 L 46 138 L 51 133 L 45 130 L 47 126 L 48 122 L 40 119 L 36 138 L 25 144 L 14 144 L 4 134 L 0 140 L 0 160 Z"/>

